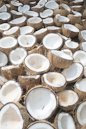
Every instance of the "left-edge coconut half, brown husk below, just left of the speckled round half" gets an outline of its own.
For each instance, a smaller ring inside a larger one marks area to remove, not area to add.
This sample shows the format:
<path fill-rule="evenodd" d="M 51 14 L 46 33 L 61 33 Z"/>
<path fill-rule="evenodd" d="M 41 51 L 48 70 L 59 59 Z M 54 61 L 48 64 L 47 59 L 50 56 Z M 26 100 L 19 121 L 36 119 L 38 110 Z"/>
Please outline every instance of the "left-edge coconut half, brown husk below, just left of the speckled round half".
<path fill-rule="evenodd" d="M 9 52 L 16 48 L 17 40 L 11 36 L 3 37 L 0 39 L 0 50 L 9 54 Z"/>

